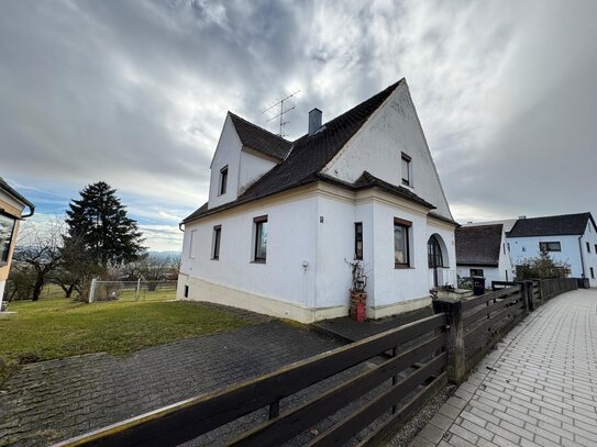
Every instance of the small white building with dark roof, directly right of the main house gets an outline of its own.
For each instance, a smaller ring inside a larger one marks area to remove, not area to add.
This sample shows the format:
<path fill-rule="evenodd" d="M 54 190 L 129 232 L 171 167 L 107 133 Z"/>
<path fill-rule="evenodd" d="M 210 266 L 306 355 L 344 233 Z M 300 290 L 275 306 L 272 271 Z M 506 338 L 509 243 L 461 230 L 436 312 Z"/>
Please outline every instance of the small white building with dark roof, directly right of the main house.
<path fill-rule="evenodd" d="M 461 278 L 485 277 L 487 288 L 491 281 L 512 281 L 512 264 L 504 224 L 464 225 L 457 228 L 456 265 Z"/>

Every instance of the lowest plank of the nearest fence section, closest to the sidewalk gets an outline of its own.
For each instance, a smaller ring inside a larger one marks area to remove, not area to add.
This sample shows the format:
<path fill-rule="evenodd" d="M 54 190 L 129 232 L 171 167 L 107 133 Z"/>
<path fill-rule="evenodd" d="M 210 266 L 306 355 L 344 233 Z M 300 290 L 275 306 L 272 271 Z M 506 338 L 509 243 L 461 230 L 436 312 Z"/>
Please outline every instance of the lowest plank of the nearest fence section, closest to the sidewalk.
<path fill-rule="evenodd" d="M 427 404 L 447 383 L 447 375 L 442 372 L 433 379 L 424 389 L 414 394 L 398 412 L 384 424 L 379 425 L 365 439 L 355 447 L 385 446 L 388 439 L 396 434 L 397 429 L 408 421 L 417 411 Z"/>

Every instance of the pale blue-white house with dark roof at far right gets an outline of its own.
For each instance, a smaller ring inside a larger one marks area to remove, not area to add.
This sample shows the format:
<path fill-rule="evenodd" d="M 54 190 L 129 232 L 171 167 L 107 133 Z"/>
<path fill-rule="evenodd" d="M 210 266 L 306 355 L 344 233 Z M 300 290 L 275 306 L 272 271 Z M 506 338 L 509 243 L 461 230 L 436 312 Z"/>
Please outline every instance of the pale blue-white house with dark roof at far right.
<path fill-rule="evenodd" d="M 597 287 L 597 227 L 590 213 L 519 219 L 507 233 L 515 266 L 549 253 L 571 266 L 571 276 L 588 278 Z"/>

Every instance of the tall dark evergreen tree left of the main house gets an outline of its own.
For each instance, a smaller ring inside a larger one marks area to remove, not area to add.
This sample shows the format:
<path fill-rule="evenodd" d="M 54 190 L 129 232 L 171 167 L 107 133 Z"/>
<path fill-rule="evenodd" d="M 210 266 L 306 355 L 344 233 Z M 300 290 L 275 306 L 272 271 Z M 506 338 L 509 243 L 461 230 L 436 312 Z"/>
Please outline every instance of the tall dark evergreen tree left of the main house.
<path fill-rule="evenodd" d="M 80 242 L 103 267 L 130 262 L 145 250 L 136 221 L 126 216 L 126 208 L 115 192 L 103 181 L 88 185 L 66 211 L 65 244 L 69 238 Z"/>

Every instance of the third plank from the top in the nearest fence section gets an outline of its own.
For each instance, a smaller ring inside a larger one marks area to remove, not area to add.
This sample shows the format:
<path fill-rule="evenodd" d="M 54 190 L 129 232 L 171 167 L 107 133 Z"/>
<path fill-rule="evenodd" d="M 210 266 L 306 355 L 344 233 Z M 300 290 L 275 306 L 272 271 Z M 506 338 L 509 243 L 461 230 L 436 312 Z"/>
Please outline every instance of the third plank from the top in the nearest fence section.
<path fill-rule="evenodd" d="M 379 417 L 384 412 L 389 411 L 391 405 L 399 402 L 418 385 L 423 383 L 431 375 L 438 372 L 445 367 L 446 354 L 443 353 L 433 360 L 425 364 L 424 367 L 401 380 L 395 387 L 391 387 L 385 393 L 378 395 L 367 405 L 357 410 L 350 416 L 345 417 L 330 429 L 322 433 L 320 436 L 307 444 L 308 447 L 323 446 L 343 446 L 355 434 L 369 425 L 373 421 Z"/>

